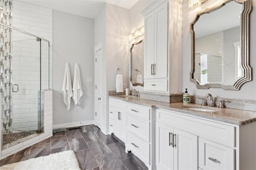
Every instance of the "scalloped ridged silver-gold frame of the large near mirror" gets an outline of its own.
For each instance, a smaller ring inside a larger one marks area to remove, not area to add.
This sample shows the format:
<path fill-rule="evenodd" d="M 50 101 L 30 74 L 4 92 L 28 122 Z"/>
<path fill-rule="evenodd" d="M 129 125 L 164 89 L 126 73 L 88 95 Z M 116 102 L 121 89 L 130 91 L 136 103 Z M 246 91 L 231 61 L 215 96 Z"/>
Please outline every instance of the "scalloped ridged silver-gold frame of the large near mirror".
<path fill-rule="evenodd" d="M 194 72 L 195 72 L 195 32 L 194 32 L 194 24 L 198 21 L 200 16 L 202 14 L 208 14 L 210 12 L 213 12 L 215 10 L 218 10 L 219 8 L 223 7 L 225 4 L 227 4 L 230 1 L 234 1 L 236 3 L 243 5 L 243 10 L 241 13 L 241 32 L 240 32 L 240 43 L 241 43 L 241 65 L 244 69 L 244 76 L 237 79 L 233 85 L 225 85 L 223 83 L 206 83 L 204 85 L 200 85 L 200 82 L 198 80 L 194 79 Z M 198 12 L 196 14 L 196 18 L 193 22 L 190 23 L 190 33 L 191 33 L 191 71 L 190 71 L 190 81 L 194 82 L 196 84 L 197 89 L 209 89 L 210 87 L 216 87 L 216 88 L 222 88 L 224 90 L 239 90 L 240 87 L 248 82 L 252 81 L 252 68 L 249 64 L 249 33 L 250 33 L 250 12 L 252 10 L 252 5 L 250 0 L 226 0 L 222 4 L 214 6 L 212 8 L 206 8 L 202 12 Z"/>

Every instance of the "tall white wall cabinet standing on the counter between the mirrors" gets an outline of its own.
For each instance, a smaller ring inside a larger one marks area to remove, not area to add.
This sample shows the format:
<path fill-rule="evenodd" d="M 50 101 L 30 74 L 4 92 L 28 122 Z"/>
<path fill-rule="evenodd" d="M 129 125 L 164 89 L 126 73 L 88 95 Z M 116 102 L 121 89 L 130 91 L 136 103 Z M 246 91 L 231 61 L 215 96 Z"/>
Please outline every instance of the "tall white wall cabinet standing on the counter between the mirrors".
<path fill-rule="evenodd" d="M 181 8 L 171 10 L 176 1 L 154 1 L 142 11 L 144 15 L 144 90 L 180 92 L 180 54 L 181 54 Z M 179 3 L 178 3 L 179 4 Z M 181 4 L 180 4 L 181 6 Z M 169 16 L 172 15 L 172 20 Z M 170 29 L 175 25 L 176 34 Z M 180 30 L 177 28 L 180 27 Z M 177 34 L 178 33 L 178 34 Z M 176 48 L 172 45 L 176 40 Z M 170 41 L 171 40 L 171 41 Z M 169 42 L 170 41 L 170 42 Z M 178 47 L 177 47 L 178 46 Z M 175 62 L 172 58 L 175 57 Z M 172 76 L 175 70 L 176 75 Z M 172 81 L 172 83 L 170 83 Z"/>

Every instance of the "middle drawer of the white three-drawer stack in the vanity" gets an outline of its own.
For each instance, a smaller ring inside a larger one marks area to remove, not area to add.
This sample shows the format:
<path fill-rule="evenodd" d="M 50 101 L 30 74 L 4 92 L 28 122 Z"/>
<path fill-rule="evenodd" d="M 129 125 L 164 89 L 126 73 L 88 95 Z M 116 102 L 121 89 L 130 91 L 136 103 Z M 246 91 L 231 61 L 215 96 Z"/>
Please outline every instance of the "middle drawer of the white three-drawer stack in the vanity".
<path fill-rule="evenodd" d="M 150 122 L 129 115 L 127 116 L 126 129 L 146 142 L 150 142 Z"/>

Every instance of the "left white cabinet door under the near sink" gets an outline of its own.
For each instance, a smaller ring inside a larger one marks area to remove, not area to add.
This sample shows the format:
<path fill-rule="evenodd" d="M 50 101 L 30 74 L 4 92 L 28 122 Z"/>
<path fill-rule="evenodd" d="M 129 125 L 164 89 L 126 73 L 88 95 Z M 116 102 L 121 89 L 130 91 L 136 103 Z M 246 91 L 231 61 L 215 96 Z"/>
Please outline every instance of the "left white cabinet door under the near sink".
<path fill-rule="evenodd" d="M 156 123 L 156 169 L 173 170 L 173 128 Z"/>

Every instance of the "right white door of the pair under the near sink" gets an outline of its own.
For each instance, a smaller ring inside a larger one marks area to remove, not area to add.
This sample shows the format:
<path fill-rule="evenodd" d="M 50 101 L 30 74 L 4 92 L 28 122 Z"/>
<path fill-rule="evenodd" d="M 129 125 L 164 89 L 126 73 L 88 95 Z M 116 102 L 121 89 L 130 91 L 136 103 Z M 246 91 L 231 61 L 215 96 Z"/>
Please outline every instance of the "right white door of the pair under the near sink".
<path fill-rule="evenodd" d="M 198 169 L 198 137 L 174 128 L 174 169 Z"/>

